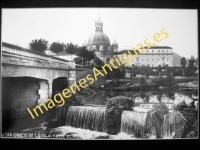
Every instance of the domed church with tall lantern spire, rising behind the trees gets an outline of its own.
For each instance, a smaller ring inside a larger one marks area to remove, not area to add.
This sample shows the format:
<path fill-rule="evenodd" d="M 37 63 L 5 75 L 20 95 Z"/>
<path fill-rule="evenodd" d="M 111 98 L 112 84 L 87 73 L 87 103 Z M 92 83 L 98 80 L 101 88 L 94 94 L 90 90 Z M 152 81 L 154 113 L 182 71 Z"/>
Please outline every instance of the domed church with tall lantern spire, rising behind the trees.
<path fill-rule="evenodd" d="M 109 37 L 103 32 L 103 22 L 100 20 L 100 17 L 95 21 L 95 33 L 90 36 L 87 48 L 95 51 L 97 57 L 105 63 L 109 61 L 114 52 L 118 51 L 116 41 L 111 45 Z"/>

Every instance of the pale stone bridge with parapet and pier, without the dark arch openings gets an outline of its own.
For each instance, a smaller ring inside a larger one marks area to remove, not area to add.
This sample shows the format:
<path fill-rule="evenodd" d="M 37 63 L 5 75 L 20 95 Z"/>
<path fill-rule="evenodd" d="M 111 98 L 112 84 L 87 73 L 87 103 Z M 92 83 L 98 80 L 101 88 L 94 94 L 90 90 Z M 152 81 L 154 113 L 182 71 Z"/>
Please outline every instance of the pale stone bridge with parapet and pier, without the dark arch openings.
<path fill-rule="evenodd" d="M 2 77 L 32 77 L 39 80 L 39 99 L 51 96 L 52 82 L 58 77 L 73 76 L 74 61 L 52 57 L 44 53 L 2 43 Z M 75 78 L 69 78 L 71 83 Z M 48 85 L 46 92 L 45 84 Z"/>

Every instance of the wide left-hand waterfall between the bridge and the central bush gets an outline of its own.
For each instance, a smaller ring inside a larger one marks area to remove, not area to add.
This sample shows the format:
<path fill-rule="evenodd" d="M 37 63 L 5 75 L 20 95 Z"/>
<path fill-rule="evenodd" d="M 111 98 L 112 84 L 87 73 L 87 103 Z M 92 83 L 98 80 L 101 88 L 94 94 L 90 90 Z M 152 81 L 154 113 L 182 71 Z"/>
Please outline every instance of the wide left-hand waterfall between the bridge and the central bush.
<path fill-rule="evenodd" d="M 70 106 L 66 126 L 106 132 L 106 108 L 91 106 Z"/>

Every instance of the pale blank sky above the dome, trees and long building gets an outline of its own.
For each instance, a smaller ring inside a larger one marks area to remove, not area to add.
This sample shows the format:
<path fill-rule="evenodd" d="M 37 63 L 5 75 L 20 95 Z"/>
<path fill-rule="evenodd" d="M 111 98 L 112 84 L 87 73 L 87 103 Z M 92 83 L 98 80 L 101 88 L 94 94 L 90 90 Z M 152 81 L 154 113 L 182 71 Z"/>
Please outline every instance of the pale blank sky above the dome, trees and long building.
<path fill-rule="evenodd" d="M 162 29 L 168 37 L 156 43 L 170 46 L 182 57 L 198 56 L 197 9 L 148 8 L 23 8 L 2 9 L 3 42 L 29 48 L 35 39 L 82 46 L 95 32 L 95 21 L 103 21 L 103 32 L 111 44 L 127 50 L 150 42 Z"/>

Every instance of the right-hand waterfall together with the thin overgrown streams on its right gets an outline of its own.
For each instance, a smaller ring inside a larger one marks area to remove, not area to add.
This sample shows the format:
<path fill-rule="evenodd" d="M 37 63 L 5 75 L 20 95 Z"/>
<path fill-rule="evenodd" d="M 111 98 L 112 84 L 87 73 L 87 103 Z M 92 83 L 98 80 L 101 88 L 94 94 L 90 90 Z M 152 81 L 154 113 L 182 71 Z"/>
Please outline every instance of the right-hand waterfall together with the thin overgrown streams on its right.
<path fill-rule="evenodd" d="M 152 122 L 152 117 L 148 118 Z M 157 123 L 157 122 L 155 122 Z M 159 127 L 155 123 L 147 127 L 147 113 L 136 111 L 123 111 L 121 119 L 121 132 L 133 135 L 135 138 L 156 138 L 156 130 L 161 130 L 162 138 L 173 138 L 175 126 L 169 117 L 164 116 L 163 124 Z"/>

